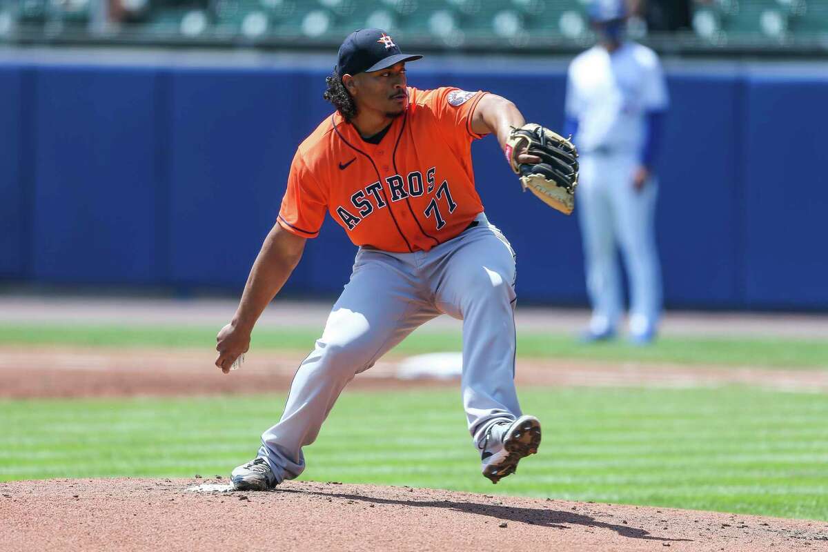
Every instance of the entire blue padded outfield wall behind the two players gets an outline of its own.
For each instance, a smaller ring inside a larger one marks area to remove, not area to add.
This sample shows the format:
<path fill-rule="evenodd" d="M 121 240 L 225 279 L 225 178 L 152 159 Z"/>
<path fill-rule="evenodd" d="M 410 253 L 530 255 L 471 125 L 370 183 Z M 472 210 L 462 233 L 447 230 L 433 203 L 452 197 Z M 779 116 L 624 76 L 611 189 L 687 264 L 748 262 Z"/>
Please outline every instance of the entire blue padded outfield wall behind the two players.
<path fill-rule="evenodd" d="M 564 65 L 493 67 L 423 63 L 409 79 L 489 90 L 561 128 Z M 0 281 L 238 291 L 296 146 L 331 113 L 328 72 L 0 65 Z M 828 79 L 734 65 L 672 70 L 668 85 L 657 214 L 667 304 L 828 309 Z M 493 137 L 473 152 L 487 214 L 517 251 L 521 300 L 585 304 L 577 215 L 521 193 Z M 327 218 L 286 291 L 335 295 L 353 258 Z"/>

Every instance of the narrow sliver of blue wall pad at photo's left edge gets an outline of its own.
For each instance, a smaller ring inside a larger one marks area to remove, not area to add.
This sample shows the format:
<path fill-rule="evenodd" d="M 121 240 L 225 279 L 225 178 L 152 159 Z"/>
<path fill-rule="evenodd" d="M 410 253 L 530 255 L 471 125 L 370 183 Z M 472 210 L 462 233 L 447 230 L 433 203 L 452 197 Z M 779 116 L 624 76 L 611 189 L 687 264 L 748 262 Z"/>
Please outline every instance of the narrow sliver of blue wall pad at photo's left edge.
<path fill-rule="evenodd" d="M 0 65 L 0 277 L 24 276 L 25 215 L 20 156 L 23 147 L 22 69 Z"/>

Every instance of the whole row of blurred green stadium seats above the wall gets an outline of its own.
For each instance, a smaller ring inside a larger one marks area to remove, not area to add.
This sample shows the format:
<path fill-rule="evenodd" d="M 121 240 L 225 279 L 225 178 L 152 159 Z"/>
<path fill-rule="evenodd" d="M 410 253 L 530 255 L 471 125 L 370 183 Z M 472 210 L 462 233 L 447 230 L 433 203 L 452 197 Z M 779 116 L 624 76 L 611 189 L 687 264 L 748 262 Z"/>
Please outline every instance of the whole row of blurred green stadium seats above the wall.
<path fill-rule="evenodd" d="M 292 46 L 339 42 L 381 27 L 418 47 L 474 44 L 491 50 L 589 43 L 590 0 L 118 0 L 109 36 L 169 41 L 200 38 Z M 655 0 L 652 0 L 655 1 Z M 0 0 L 0 40 L 16 28 L 81 30 L 108 0 Z M 694 0 L 683 44 L 784 46 L 810 40 L 828 48 L 828 0 Z M 123 14 L 122 14 L 123 12 Z M 117 23 L 117 24 L 116 24 Z M 633 36 L 646 37 L 643 20 Z M 669 36 L 649 36 L 669 45 Z"/>

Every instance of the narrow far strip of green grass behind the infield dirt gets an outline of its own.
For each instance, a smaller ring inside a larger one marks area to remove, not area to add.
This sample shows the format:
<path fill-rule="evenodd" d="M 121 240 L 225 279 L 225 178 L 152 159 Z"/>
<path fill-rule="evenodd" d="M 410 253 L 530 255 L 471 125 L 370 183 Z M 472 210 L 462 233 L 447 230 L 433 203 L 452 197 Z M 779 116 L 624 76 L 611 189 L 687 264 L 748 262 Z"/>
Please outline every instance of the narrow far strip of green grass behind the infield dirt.
<path fill-rule="evenodd" d="M 252 354 L 261 349 L 308 351 L 320 330 L 259 328 L 253 332 Z M 214 327 L 0 324 L 0 344 L 214 348 L 217 331 Z M 459 330 L 418 330 L 395 352 L 460 350 L 460 343 Z M 640 348 L 623 340 L 585 346 L 569 335 L 521 332 L 517 336 L 517 354 L 522 358 L 610 362 L 828 368 L 828 340 L 819 339 L 668 336 Z"/>

